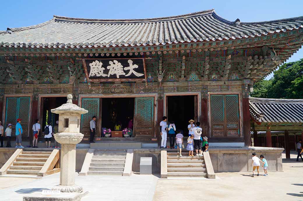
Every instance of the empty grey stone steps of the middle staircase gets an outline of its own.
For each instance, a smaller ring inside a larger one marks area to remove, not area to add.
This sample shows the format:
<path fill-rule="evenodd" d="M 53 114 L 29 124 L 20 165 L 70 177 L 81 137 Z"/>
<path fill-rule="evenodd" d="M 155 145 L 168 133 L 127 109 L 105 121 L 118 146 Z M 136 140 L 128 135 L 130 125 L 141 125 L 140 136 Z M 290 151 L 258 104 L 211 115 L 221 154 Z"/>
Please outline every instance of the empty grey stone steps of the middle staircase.
<path fill-rule="evenodd" d="M 88 175 L 122 176 L 126 149 L 96 149 L 88 168 Z"/>

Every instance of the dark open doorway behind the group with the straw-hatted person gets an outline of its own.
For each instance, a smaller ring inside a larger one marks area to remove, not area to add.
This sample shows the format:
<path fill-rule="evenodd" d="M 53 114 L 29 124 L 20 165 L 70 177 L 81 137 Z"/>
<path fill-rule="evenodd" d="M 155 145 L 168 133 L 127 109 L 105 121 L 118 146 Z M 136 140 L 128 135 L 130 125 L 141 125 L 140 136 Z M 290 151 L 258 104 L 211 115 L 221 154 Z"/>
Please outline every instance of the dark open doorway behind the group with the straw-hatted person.
<path fill-rule="evenodd" d="M 189 96 L 167 96 L 167 118 L 168 121 L 174 121 L 176 129 L 181 129 L 185 136 L 188 136 L 188 121 L 197 120 L 196 95 Z"/>

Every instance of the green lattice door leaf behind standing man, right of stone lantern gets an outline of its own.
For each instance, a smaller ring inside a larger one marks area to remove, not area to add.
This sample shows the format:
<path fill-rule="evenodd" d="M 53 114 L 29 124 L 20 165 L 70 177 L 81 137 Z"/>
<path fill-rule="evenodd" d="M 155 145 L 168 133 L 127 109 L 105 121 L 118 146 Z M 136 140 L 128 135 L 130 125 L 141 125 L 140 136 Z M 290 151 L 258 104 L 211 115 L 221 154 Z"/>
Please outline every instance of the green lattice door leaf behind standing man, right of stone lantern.
<path fill-rule="evenodd" d="M 84 137 L 90 137 L 90 125 L 89 122 L 92 120 L 93 116 L 97 117 L 96 120 L 96 134 L 98 130 L 98 120 L 99 120 L 99 108 L 100 108 L 100 99 L 99 98 L 82 98 L 82 108 L 88 110 L 88 113 L 81 115 L 81 132 Z"/>

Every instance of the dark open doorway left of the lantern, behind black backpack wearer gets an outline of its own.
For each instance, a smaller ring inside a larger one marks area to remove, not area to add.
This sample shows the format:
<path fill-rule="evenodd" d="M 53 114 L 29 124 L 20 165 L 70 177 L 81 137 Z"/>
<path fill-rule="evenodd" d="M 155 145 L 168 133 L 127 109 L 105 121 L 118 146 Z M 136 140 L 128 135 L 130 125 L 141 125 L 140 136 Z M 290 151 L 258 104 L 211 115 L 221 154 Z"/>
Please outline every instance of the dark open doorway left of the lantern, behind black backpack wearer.
<path fill-rule="evenodd" d="M 67 101 L 66 97 L 42 97 L 41 98 L 41 117 L 40 124 L 42 127 L 42 132 L 44 132 L 44 128 L 46 123 L 49 121 L 52 127 L 55 126 L 55 122 L 59 120 L 59 115 L 52 113 L 51 109 L 55 109 L 56 107 L 65 104 Z"/>

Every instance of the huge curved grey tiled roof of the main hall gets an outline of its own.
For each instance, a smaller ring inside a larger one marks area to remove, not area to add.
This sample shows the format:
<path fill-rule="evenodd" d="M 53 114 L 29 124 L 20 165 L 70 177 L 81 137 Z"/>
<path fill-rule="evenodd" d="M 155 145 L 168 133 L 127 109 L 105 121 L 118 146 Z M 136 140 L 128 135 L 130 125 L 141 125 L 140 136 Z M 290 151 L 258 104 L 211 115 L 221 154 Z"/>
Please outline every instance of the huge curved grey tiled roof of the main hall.
<path fill-rule="evenodd" d="M 303 27 L 303 17 L 264 22 L 228 21 L 213 9 L 164 18 L 83 19 L 54 15 L 42 24 L 0 31 L 0 46 L 85 48 L 218 41 Z"/>

